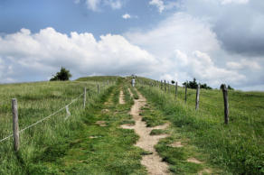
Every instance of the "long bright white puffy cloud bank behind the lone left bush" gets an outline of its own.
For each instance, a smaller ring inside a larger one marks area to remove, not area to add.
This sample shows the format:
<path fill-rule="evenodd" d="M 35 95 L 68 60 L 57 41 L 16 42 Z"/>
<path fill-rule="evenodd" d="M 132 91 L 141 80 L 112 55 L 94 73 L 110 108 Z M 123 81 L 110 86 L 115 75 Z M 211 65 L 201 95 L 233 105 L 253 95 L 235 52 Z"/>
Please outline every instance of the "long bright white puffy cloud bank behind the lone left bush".
<path fill-rule="evenodd" d="M 97 41 L 91 33 L 71 32 L 70 36 L 52 28 L 32 33 L 20 32 L 0 37 L 0 78 L 24 81 L 47 79 L 61 66 L 75 78 L 87 75 L 129 75 L 155 72 L 155 57 L 120 35 L 103 35 Z"/>

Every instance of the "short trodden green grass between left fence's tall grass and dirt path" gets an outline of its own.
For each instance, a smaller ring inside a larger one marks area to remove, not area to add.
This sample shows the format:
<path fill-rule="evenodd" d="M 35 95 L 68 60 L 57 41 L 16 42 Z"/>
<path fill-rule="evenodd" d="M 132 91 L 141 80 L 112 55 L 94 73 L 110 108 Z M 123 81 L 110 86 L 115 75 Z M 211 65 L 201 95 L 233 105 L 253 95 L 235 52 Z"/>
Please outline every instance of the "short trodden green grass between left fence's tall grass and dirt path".
<path fill-rule="evenodd" d="M 121 121 L 130 118 L 131 104 L 115 105 L 119 88 L 112 88 L 108 96 L 86 109 L 82 115 L 83 128 L 67 142 L 48 147 L 35 159 L 30 174 L 146 174 L 140 164 L 141 149 L 133 146 L 138 136 L 132 130 L 119 128 Z M 110 96 L 113 94 L 113 96 Z M 103 105 L 104 101 L 110 101 Z M 102 114 L 104 108 L 110 109 Z M 116 115 L 113 115 L 116 113 Z M 101 127 L 97 121 L 105 121 Z M 93 138 L 90 138 L 90 137 Z"/>

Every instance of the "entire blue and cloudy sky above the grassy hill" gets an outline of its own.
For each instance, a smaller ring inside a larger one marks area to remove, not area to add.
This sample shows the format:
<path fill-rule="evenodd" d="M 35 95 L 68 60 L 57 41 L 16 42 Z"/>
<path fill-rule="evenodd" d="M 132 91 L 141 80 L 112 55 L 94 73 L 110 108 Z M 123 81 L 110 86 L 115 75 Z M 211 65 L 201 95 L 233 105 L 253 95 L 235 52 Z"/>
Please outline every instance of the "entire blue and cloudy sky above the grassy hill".
<path fill-rule="evenodd" d="M 0 83 L 131 75 L 264 90 L 263 0 L 1 0 Z"/>

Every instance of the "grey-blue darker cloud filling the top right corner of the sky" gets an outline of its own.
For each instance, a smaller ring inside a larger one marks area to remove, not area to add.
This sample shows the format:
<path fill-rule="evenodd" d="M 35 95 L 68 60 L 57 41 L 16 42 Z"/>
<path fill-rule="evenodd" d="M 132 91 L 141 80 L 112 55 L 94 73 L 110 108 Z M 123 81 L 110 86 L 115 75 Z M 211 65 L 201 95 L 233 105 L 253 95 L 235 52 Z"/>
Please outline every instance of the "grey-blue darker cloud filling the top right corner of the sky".
<path fill-rule="evenodd" d="M 183 11 L 208 20 L 225 51 L 246 57 L 263 57 L 263 9 L 264 1 L 259 0 L 186 0 Z"/>

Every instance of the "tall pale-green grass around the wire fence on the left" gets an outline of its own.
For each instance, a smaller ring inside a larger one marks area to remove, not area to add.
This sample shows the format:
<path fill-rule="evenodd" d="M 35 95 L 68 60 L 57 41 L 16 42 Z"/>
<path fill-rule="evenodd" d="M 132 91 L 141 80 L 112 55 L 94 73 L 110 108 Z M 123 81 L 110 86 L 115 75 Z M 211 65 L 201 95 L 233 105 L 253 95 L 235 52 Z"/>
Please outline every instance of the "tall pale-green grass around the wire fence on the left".
<path fill-rule="evenodd" d="M 71 103 L 87 88 L 87 107 L 107 93 L 107 86 L 99 83 L 101 93 L 97 95 L 94 82 L 38 82 L 0 85 L 0 138 L 12 134 L 11 99 L 17 98 L 19 126 L 35 123 L 47 115 Z M 26 174 L 35 157 L 54 144 L 64 142 L 71 131 L 82 127 L 84 113 L 83 97 L 69 106 L 71 116 L 65 120 L 66 111 L 53 115 L 44 122 L 20 134 L 20 151 L 14 152 L 13 137 L 0 143 L 0 174 Z"/>

